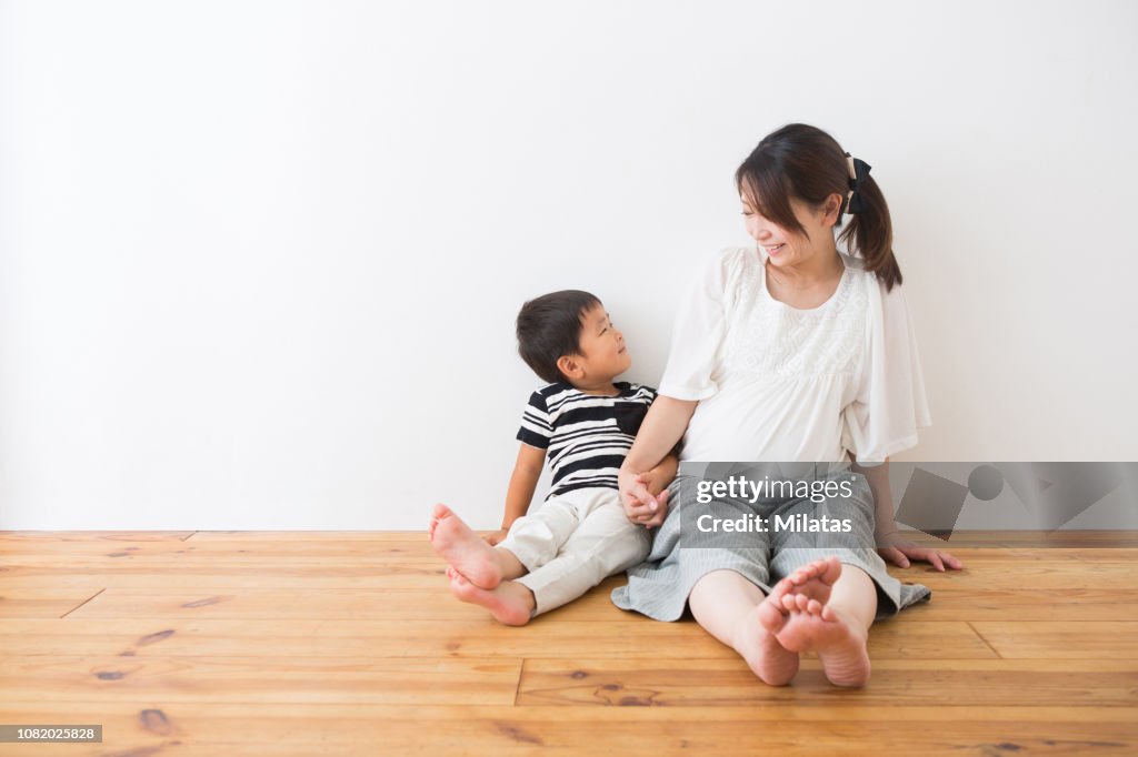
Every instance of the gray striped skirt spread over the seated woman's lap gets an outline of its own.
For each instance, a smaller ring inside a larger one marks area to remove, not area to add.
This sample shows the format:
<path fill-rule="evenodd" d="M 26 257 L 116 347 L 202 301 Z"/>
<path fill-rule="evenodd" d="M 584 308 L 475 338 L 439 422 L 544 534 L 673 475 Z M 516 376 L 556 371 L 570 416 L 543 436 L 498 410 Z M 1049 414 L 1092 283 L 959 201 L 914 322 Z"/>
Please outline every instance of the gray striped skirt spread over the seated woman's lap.
<path fill-rule="evenodd" d="M 879 621 L 909 605 L 927 601 L 932 597 L 927 587 L 901 583 L 889 574 L 885 561 L 877 555 L 873 493 L 865 476 L 848 471 L 840 475 L 850 480 L 852 489 L 852 497 L 842 498 L 840 502 L 786 498 L 754 505 L 729 498 L 696 504 L 696 484 L 702 476 L 677 476 L 668 488 L 670 509 L 663 524 L 655 530 L 652 551 L 643 563 L 629 568 L 627 585 L 612 590 L 612 602 L 620 609 L 636 610 L 657 621 L 676 621 L 684 614 L 692 587 L 711 571 L 735 571 L 769 593 L 774 584 L 799 567 L 830 555 L 836 555 L 846 565 L 856 565 L 873 579 L 877 587 Z M 848 518 L 851 530 L 825 534 L 774 530 L 708 535 L 694 527 L 696 514 L 729 518 L 742 513 L 768 518 L 770 523 L 776 517 L 782 521 L 795 516 L 817 519 L 835 515 Z M 681 523 L 684 523 L 683 529 Z"/>

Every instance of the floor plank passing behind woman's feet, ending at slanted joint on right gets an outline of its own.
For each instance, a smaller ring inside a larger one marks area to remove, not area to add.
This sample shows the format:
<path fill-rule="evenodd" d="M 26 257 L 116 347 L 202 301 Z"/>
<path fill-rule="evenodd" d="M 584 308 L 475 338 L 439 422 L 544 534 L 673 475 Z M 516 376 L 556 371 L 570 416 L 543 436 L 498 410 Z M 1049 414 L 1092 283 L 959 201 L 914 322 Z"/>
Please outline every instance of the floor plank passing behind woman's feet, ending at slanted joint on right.
<path fill-rule="evenodd" d="M 996 654 L 964 622 L 880 623 L 869 638 L 874 658 L 931 657 L 984 659 Z M 288 623 L 234 619 L 0 619 L 0 650 L 28 655 L 339 657 L 580 657 L 721 658 L 733 651 L 694 622 L 635 626 L 538 618 L 522 629 L 486 618 L 452 621 L 336 621 L 295 618 Z"/>

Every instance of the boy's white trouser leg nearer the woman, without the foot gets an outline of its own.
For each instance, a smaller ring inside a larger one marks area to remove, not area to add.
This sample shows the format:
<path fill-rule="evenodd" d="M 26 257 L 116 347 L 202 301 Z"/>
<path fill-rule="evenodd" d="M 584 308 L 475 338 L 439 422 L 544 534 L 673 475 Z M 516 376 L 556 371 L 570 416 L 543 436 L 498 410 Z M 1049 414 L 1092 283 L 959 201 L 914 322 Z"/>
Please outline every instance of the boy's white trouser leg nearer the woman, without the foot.
<path fill-rule="evenodd" d="M 570 492 L 574 493 L 574 492 Z M 651 534 L 630 523 L 616 490 L 591 490 L 578 501 L 580 525 L 552 560 L 518 579 L 534 592 L 534 615 L 577 599 L 648 556 Z"/>

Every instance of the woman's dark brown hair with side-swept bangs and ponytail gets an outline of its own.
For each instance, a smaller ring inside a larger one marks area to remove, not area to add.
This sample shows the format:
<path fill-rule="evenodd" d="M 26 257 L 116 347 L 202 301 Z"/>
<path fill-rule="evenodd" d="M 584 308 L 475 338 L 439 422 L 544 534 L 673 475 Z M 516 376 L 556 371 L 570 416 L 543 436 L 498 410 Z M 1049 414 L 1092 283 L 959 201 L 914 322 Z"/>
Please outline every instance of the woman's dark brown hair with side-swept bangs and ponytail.
<path fill-rule="evenodd" d="M 790 198 L 817 208 L 833 193 L 841 194 L 841 226 L 850 190 L 846 151 L 830 134 L 807 124 L 787 124 L 767 134 L 735 172 L 735 188 L 765 218 L 809 238 L 794 217 Z M 849 226 L 838 238 L 857 251 L 866 271 L 885 283 L 885 291 L 901 283 L 901 268 L 893 257 L 893 225 L 885 196 L 872 176 L 858 186 L 864 210 L 851 214 Z M 849 240 L 856 241 L 855 246 Z"/>

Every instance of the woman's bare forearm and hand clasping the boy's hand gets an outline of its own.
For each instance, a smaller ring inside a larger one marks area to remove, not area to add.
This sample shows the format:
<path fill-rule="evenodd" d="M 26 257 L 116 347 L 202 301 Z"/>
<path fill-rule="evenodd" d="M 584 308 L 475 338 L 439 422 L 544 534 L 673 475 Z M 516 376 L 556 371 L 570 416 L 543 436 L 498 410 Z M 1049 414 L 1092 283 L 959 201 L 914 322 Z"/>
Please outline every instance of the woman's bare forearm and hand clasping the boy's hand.
<path fill-rule="evenodd" d="M 659 465 L 675 449 L 687 430 L 687 422 L 698 404 L 696 400 L 678 400 L 660 394 L 648 409 L 636 441 L 620 466 L 617 483 L 620 501 L 629 521 L 648 526 L 663 522 L 667 514 L 667 491 L 661 492 L 658 499 L 649 493 L 644 482 L 637 480 L 637 476 Z"/>

